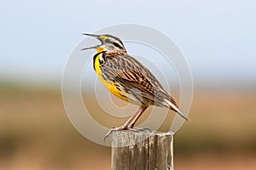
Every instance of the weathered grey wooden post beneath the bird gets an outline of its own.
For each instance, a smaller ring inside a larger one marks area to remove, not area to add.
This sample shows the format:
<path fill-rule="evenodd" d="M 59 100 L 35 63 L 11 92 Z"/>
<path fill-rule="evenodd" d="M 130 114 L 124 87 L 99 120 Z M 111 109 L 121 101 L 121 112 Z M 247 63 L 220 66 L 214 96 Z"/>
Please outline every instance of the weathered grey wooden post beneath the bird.
<path fill-rule="evenodd" d="M 172 133 L 117 131 L 112 137 L 112 170 L 173 170 Z"/>

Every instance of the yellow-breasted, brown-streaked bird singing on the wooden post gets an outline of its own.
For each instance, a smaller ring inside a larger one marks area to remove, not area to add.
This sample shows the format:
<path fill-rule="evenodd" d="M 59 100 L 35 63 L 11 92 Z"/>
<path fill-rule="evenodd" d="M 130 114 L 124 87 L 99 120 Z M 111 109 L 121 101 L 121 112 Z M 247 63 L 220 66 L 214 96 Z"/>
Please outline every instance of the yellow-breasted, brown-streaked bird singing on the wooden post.
<path fill-rule="evenodd" d="M 83 33 L 83 35 L 95 37 L 101 42 L 101 44 L 81 50 L 96 49 L 93 68 L 104 87 L 119 99 L 139 105 L 137 111 L 123 126 L 110 129 L 104 139 L 113 131 L 136 129 L 135 123 L 150 105 L 169 108 L 186 121 L 190 121 L 189 116 L 183 115 L 175 99 L 166 92 L 153 73 L 127 53 L 119 37 L 109 34 Z"/>

